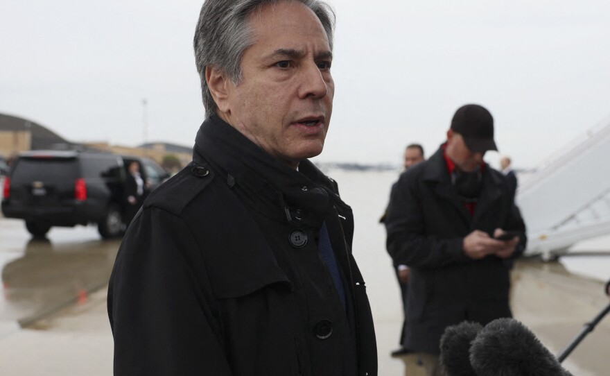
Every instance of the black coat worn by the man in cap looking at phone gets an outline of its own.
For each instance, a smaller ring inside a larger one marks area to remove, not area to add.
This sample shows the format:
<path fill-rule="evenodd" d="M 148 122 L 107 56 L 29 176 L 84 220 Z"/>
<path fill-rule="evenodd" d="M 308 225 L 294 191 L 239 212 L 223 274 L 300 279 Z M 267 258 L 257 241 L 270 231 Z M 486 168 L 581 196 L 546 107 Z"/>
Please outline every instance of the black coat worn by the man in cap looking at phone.
<path fill-rule="evenodd" d="M 406 347 L 438 353 L 445 327 L 461 321 L 485 325 L 511 316 L 511 260 L 488 256 L 474 261 L 462 241 L 473 230 L 493 236 L 496 228 L 523 232 L 513 255 L 525 248 L 525 225 L 502 174 L 487 164 L 471 216 L 451 184 L 442 150 L 401 175 L 385 220 L 387 250 L 410 267 Z"/>

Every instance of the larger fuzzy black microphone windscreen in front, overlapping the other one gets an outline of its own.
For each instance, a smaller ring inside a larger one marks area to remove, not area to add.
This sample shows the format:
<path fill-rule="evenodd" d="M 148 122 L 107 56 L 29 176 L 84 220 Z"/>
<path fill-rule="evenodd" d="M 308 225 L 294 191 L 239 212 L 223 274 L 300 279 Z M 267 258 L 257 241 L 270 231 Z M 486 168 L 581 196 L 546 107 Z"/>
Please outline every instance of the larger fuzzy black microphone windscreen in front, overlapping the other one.
<path fill-rule="evenodd" d="M 514 318 L 487 324 L 473 341 L 470 363 L 478 376 L 569 376 L 555 355 Z"/>

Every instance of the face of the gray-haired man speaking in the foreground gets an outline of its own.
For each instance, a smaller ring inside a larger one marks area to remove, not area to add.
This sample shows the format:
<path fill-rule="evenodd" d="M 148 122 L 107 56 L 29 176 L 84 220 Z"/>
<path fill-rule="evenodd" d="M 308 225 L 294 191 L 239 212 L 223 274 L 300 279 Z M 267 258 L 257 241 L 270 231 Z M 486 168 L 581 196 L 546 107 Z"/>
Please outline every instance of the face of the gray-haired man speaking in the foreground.
<path fill-rule="evenodd" d="M 333 110 L 332 55 L 320 20 L 302 3 L 281 1 L 250 17 L 255 42 L 243 80 L 227 83 L 218 115 L 267 153 L 296 168 L 322 152 Z"/>

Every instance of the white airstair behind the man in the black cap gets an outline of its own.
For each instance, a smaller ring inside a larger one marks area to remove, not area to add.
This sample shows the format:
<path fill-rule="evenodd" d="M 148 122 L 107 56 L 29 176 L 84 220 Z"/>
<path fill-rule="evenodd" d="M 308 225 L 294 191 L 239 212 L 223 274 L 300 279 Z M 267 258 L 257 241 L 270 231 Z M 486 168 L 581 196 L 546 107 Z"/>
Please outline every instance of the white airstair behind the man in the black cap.
<path fill-rule="evenodd" d="M 577 241 L 610 234 L 610 117 L 524 177 L 516 203 L 528 228 L 528 254 L 553 257 Z"/>

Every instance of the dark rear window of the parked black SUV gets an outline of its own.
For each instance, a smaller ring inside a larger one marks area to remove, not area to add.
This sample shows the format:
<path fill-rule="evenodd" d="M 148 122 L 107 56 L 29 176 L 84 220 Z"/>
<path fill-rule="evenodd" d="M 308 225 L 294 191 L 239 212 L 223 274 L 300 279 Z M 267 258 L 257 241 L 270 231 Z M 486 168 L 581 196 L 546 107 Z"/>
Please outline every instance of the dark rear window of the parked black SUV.
<path fill-rule="evenodd" d="M 12 182 L 73 181 L 78 178 L 74 158 L 20 158 L 12 169 Z"/>

